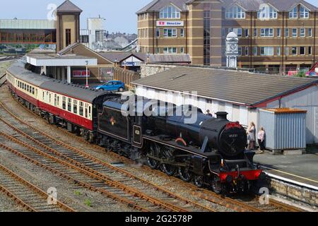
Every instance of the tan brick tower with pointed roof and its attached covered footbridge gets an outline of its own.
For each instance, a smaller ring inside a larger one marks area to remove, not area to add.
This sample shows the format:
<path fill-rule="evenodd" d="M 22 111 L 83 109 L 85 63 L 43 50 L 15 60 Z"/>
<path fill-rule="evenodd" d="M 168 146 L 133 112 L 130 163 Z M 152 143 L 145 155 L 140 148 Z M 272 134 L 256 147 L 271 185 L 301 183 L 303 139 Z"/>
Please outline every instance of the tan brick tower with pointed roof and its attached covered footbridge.
<path fill-rule="evenodd" d="M 66 0 L 56 20 L 0 20 L 0 44 L 56 44 L 57 52 L 80 39 L 81 8 Z"/>

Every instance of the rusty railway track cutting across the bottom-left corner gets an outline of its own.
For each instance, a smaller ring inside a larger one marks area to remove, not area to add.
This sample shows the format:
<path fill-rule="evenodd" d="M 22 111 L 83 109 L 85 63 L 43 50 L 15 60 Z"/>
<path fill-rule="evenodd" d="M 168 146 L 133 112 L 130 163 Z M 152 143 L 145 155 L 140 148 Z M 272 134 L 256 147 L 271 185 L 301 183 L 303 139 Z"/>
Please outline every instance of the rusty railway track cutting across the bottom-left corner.
<path fill-rule="evenodd" d="M 49 195 L 4 165 L 0 165 L 0 191 L 31 212 L 75 212 L 60 201 L 48 204 Z"/>

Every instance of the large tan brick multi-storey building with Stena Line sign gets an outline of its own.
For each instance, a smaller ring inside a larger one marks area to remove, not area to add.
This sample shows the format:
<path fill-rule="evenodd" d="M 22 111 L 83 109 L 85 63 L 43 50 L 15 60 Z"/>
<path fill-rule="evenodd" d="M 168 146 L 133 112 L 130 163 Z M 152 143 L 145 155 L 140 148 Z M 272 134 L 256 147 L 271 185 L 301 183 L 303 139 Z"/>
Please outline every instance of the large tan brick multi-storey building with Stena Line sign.
<path fill-rule="evenodd" d="M 287 73 L 317 61 L 317 11 L 302 0 L 155 0 L 137 12 L 139 50 L 225 66 L 225 37 L 233 31 L 240 67 Z"/>

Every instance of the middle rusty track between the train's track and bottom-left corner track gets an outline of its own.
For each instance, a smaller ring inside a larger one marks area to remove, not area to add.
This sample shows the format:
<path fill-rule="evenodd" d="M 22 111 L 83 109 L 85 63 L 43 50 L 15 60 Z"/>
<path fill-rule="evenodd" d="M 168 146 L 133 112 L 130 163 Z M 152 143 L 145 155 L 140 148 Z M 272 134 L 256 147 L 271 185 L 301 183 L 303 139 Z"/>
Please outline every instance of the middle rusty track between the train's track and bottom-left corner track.
<path fill-rule="evenodd" d="M 4 117 L 8 118 L 8 116 L 4 116 L 3 113 L 1 112 L 0 119 L 4 124 L 0 129 L 1 148 L 20 156 L 27 156 L 28 160 L 42 164 L 44 163 L 41 162 L 41 159 L 46 157 L 52 161 L 49 164 L 58 164 L 59 169 L 60 165 L 64 165 L 68 169 L 75 170 L 76 172 L 73 172 L 73 174 L 85 174 L 86 177 L 90 177 L 90 180 L 94 180 L 93 184 L 90 182 L 91 186 L 97 184 L 96 186 L 102 188 L 102 191 L 112 191 L 112 194 L 108 195 L 112 195 L 112 198 L 117 198 L 119 201 L 122 200 L 118 196 L 128 196 L 129 200 L 124 200 L 124 203 L 139 210 L 213 211 L 212 208 L 177 196 L 177 194 L 173 194 L 107 162 L 102 162 L 66 143 L 61 143 L 61 141 L 57 141 L 42 131 L 23 123 L 23 121 L 18 121 L 15 118 L 7 121 Z M 7 143 L 6 141 L 10 142 Z M 47 164 L 46 166 L 51 167 Z M 57 169 L 57 166 L 53 168 Z M 66 174 L 65 171 L 61 173 Z M 85 179 L 80 179 L 83 180 L 81 184 L 89 184 L 85 182 Z"/>

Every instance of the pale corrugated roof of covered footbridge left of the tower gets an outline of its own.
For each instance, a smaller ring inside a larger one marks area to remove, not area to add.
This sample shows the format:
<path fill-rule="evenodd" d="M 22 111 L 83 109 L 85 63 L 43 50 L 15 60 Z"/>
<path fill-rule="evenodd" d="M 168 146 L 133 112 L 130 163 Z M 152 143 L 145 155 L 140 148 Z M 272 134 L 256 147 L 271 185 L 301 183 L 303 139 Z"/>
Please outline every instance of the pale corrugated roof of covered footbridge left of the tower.
<path fill-rule="evenodd" d="M 0 20 L 0 29 L 54 30 L 54 20 Z"/>

